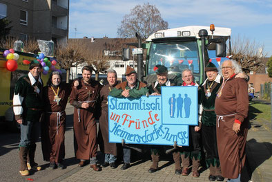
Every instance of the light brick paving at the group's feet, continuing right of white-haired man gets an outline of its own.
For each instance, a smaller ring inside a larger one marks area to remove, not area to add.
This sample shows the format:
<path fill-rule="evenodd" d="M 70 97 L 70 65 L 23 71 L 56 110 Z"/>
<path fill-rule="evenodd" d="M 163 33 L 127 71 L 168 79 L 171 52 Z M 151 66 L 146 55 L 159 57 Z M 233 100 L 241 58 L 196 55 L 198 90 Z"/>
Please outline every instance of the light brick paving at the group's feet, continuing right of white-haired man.
<path fill-rule="evenodd" d="M 243 170 L 242 181 L 271 181 L 272 179 L 272 132 L 271 122 L 267 120 L 251 120 L 251 128 L 247 136 L 246 145 L 246 167 Z M 171 158 L 171 157 L 170 157 Z M 135 161 L 127 170 L 120 170 L 110 167 L 102 168 L 101 172 L 95 172 L 89 165 L 85 167 L 76 167 L 53 182 L 63 181 L 208 181 L 209 170 L 200 167 L 200 177 L 193 178 L 192 173 L 189 176 L 175 174 L 175 165 L 173 161 L 159 161 L 157 172 L 150 174 L 148 169 L 151 165 L 150 160 Z M 251 180 L 250 180 L 251 179 Z M 226 179 L 224 180 L 226 181 Z"/>

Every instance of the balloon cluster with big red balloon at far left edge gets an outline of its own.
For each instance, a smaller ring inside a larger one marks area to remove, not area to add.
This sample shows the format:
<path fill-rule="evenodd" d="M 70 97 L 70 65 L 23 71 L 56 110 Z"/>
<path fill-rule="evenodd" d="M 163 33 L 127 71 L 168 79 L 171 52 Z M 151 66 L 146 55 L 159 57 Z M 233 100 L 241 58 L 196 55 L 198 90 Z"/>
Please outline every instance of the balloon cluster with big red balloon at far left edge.
<path fill-rule="evenodd" d="M 15 53 L 12 48 L 3 52 L 3 56 L 8 60 L 6 62 L 6 69 L 8 71 L 15 71 L 18 68 L 17 60 L 19 59 L 19 54 Z"/>

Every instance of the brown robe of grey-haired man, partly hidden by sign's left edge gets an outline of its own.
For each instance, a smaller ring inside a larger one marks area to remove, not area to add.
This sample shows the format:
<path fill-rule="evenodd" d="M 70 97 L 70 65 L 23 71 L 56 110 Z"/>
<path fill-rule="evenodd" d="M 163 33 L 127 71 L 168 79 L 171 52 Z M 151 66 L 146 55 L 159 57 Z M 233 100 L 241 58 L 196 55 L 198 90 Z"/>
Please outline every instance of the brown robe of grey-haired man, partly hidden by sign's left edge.
<path fill-rule="evenodd" d="M 99 118 L 99 129 L 103 138 L 104 153 L 117 156 L 116 143 L 108 142 L 108 93 L 110 93 L 113 88 L 114 87 L 110 87 L 110 84 L 106 84 L 100 91 L 101 116 Z"/>

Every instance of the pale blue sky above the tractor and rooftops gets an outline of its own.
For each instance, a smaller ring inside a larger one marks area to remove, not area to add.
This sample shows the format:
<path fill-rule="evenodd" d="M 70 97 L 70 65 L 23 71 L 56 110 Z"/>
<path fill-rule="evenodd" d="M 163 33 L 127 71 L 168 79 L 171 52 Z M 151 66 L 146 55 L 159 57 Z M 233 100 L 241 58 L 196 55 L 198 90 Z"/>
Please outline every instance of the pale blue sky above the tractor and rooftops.
<path fill-rule="evenodd" d="M 70 0 L 69 37 L 117 37 L 124 15 L 147 2 L 157 7 L 169 28 L 228 27 L 233 38 L 255 41 L 264 45 L 266 57 L 272 55 L 272 0 Z"/>

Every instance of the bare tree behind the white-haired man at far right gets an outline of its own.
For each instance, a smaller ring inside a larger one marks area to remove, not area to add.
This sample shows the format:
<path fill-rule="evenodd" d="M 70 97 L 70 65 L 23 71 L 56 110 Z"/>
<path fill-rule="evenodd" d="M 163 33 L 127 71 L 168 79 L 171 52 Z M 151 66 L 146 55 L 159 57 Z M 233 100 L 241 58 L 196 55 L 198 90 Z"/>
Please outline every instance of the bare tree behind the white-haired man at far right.
<path fill-rule="evenodd" d="M 231 59 L 236 60 L 243 71 L 258 71 L 264 66 L 263 61 L 266 54 L 263 53 L 264 45 L 256 44 L 255 41 L 237 36 L 231 43 Z"/>

